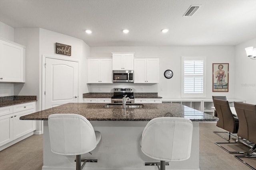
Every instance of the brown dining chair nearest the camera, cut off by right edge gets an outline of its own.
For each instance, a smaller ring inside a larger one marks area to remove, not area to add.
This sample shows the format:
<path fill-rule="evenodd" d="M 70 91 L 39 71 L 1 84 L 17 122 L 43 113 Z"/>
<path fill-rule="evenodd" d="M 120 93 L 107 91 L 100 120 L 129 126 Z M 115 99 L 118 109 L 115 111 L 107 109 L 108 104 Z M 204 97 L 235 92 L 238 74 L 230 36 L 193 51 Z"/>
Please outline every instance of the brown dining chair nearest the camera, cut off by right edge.
<path fill-rule="evenodd" d="M 253 168 L 241 158 L 256 158 L 256 155 L 253 154 L 253 152 L 256 152 L 256 105 L 234 102 L 234 107 L 240 122 L 237 135 L 251 143 L 254 143 L 250 150 L 244 152 L 244 155 L 235 157 L 255 170 L 256 167 Z"/>

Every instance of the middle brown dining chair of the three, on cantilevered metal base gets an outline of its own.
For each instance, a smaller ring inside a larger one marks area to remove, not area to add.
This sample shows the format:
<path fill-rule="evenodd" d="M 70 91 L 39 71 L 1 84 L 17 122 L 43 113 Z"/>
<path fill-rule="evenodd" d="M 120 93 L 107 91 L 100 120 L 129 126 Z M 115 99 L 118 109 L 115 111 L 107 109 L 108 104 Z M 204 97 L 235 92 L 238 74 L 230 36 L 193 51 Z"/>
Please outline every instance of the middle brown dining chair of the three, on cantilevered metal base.
<path fill-rule="evenodd" d="M 215 142 L 216 145 L 221 147 L 222 149 L 226 150 L 228 153 L 243 153 L 243 152 L 238 152 L 238 151 L 229 151 L 226 148 L 222 147 L 220 144 L 225 144 L 225 143 L 238 143 L 238 136 L 234 135 L 233 133 L 238 132 L 238 127 L 239 127 L 239 122 L 238 119 L 235 121 L 235 117 L 232 114 L 232 111 L 230 110 L 230 106 L 228 104 L 228 101 L 226 100 L 220 100 L 220 99 L 214 99 L 214 106 L 215 109 L 218 113 L 218 118 L 219 121 L 217 121 L 216 126 L 226 130 L 226 131 L 214 131 L 214 133 L 220 137 L 222 137 L 218 133 L 228 133 L 229 138 L 225 139 L 227 142 Z M 230 141 L 231 135 L 236 137 L 236 141 Z"/>

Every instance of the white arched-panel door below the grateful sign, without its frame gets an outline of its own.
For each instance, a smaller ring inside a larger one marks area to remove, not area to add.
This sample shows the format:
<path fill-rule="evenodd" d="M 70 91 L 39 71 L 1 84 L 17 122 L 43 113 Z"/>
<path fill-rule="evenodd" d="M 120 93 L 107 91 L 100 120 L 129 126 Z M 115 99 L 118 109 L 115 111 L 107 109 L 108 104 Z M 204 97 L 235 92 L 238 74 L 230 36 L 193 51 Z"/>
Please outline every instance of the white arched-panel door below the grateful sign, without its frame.
<path fill-rule="evenodd" d="M 45 109 L 78 102 L 78 62 L 46 58 Z"/>

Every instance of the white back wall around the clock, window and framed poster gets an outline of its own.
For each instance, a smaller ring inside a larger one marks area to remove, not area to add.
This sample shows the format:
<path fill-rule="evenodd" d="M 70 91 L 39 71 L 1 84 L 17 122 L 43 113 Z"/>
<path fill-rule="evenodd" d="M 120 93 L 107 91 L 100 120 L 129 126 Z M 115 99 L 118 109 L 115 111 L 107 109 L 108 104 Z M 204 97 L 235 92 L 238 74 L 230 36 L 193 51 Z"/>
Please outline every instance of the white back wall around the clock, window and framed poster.
<path fill-rule="evenodd" d="M 235 98 L 234 46 L 91 47 L 90 57 L 111 57 L 111 52 L 134 52 L 134 58 L 159 58 L 159 83 L 90 84 L 90 92 L 112 92 L 112 88 L 115 87 L 134 87 L 134 92 L 158 92 L 158 95 L 163 98 L 180 98 L 181 56 L 206 56 L 206 98 L 212 98 L 212 96 Z M 229 92 L 212 92 L 212 63 L 229 63 L 231 73 L 229 74 Z M 171 79 L 164 78 L 164 71 L 167 69 L 174 73 Z"/>

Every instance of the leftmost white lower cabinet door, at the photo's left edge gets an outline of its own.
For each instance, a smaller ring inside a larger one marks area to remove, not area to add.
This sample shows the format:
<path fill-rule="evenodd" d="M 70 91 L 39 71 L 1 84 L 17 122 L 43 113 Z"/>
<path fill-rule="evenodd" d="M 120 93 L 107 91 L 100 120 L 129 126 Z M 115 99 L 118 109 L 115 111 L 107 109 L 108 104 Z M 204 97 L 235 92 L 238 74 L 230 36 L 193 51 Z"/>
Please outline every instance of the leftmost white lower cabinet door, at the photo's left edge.
<path fill-rule="evenodd" d="M 0 116 L 0 146 L 13 140 L 13 114 Z"/>

